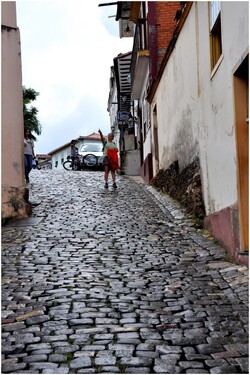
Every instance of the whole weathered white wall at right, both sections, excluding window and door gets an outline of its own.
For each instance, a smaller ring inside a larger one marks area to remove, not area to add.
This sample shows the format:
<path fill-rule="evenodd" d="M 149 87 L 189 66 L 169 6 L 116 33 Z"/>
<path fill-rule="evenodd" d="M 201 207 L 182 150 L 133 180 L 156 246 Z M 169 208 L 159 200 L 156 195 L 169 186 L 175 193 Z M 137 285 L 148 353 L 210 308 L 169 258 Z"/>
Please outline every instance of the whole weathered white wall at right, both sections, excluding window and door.
<path fill-rule="evenodd" d="M 201 163 L 206 213 L 237 202 L 233 72 L 248 48 L 248 2 L 221 2 L 223 59 L 211 76 L 208 2 L 194 2 L 155 94 L 159 168 Z M 152 116 L 153 121 L 153 116 Z"/>

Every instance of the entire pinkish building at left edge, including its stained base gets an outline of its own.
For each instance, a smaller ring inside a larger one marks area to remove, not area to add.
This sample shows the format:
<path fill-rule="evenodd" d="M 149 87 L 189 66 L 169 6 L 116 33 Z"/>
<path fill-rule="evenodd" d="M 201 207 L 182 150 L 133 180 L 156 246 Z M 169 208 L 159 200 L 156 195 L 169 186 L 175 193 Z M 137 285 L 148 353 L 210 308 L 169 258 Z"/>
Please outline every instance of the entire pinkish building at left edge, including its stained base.
<path fill-rule="evenodd" d="M 24 126 L 20 32 L 16 3 L 1 2 L 2 221 L 31 212 L 24 180 Z"/>

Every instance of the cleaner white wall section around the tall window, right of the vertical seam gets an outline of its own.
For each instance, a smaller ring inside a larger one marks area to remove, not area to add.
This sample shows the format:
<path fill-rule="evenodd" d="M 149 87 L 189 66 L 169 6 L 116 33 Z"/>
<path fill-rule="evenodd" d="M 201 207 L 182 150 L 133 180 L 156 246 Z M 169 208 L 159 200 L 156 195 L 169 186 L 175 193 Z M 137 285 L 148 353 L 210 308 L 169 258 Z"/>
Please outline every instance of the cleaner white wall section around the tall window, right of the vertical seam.
<path fill-rule="evenodd" d="M 248 48 L 248 3 L 221 2 L 223 58 L 210 72 L 207 3 L 199 2 L 200 160 L 207 214 L 237 202 L 233 70 Z M 207 105 L 207 104 L 210 105 Z"/>

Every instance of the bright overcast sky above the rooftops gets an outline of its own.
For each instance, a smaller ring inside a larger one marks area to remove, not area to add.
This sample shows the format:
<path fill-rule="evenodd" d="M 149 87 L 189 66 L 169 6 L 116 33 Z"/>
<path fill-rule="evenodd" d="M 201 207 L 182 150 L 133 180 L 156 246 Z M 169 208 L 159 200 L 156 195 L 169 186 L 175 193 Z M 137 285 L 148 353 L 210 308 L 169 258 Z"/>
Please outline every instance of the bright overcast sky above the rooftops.
<path fill-rule="evenodd" d="M 78 136 L 110 130 L 110 67 L 132 50 L 119 37 L 116 5 L 108 1 L 17 0 L 23 85 L 40 93 L 42 134 L 35 152 L 46 154 Z"/>

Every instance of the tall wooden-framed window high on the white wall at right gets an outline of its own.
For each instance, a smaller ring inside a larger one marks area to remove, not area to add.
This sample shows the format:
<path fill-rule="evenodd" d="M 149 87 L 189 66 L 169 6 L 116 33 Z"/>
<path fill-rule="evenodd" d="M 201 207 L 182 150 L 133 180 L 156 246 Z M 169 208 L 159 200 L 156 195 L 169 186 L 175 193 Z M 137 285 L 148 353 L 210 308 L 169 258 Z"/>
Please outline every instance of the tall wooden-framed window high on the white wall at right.
<path fill-rule="evenodd" d="M 211 1 L 209 3 L 210 11 L 210 56 L 211 70 L 215 67 L 222 54 L 221 40 L 221 3 L 220 1 Z"/>

